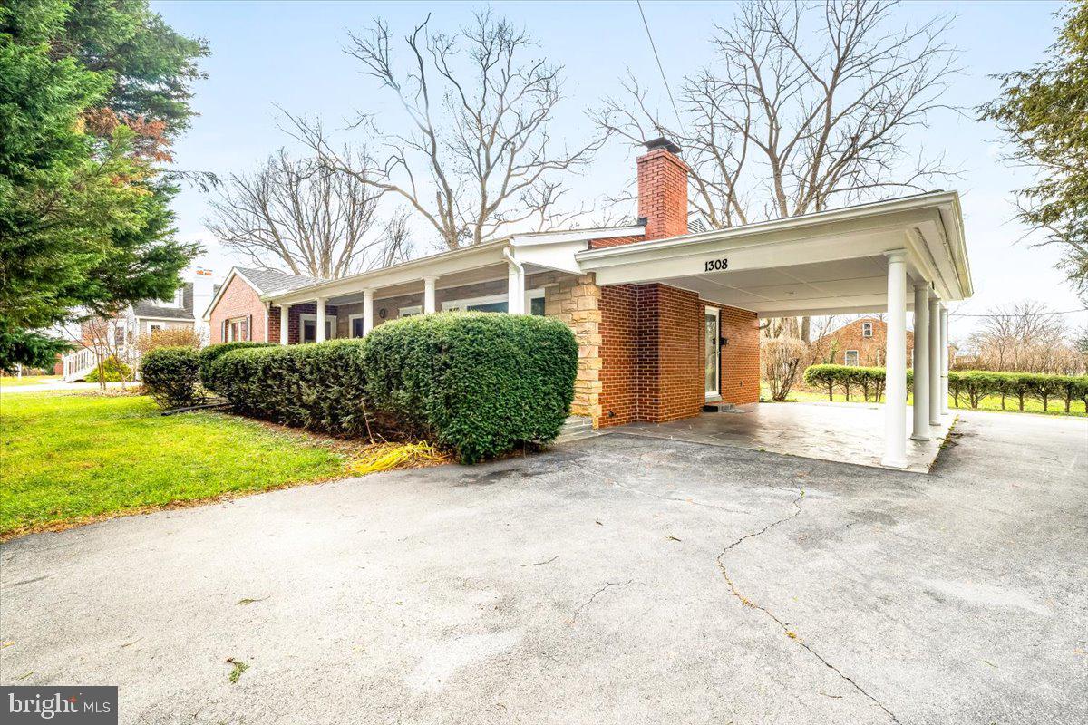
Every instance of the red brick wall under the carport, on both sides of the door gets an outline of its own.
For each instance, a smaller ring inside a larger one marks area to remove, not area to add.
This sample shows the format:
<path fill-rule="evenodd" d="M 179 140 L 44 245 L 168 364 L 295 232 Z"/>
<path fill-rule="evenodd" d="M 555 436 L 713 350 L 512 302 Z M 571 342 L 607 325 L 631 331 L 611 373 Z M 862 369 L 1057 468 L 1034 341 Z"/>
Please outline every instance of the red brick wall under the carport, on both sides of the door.
<path fill-rule="evenodd" d="M 697 415 L 706 401 L 703 315 L 708 303 L 667 285 L 601 290 L 602 427 L 664 423 Z M 721 397 L 759 400 L 759 330 L 755 313 L 721 310 Z"/>

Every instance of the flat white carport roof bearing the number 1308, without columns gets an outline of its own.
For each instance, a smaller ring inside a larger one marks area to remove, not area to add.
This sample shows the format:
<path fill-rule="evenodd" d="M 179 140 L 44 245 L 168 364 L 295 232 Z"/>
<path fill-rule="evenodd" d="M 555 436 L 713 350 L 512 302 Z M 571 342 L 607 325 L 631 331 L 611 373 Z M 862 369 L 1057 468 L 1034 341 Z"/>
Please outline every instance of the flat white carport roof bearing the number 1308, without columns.
<path fill-rule="evenodd" d="M 840 314 L 887 307 L 886 252 L 907 275 L 956 301 L 973 293 L 955 191 L 775 220 L 576 255 L 598 285 L 659 282 L 761 316 Z M 727 263 L 725 271 L 717 266 Z"/>

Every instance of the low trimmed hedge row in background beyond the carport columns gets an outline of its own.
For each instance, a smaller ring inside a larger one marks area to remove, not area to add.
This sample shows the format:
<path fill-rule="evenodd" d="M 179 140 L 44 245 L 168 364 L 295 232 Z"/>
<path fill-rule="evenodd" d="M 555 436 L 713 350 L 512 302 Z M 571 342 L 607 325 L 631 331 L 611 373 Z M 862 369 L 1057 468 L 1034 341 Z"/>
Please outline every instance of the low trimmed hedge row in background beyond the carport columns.
<path fill-rule="evenodd" d="M 906 372 L 907 391 L 914 382 L 913 371 Z M 831 400 L 836 390 L 845 393 L 850 400 L 852 390 L 861 390 L 865 400 L 879 400 L 883 395 L 883 367 L 856 367 L 849 365 L 812 365 L 805 371 L 805 383 L 827 391 Z M 1001 398 L 1005 407 L 1007 398 L 1017 401 L 1024 410 L 1025 400 L 1038 400 L 1042 409 L 1050 410 L 1050 403 L 1061 400 L 1065 412 L 1074 400 L 1083 400 L 1088 407 L 1088 375 L 1042 375 L 1039 373 L 997 373 L 990 371 L 950 371 L 949 393 L 956 408 L 960 397 L 965 396 L 967 404 L 978 408 L 988 396 Z"/>

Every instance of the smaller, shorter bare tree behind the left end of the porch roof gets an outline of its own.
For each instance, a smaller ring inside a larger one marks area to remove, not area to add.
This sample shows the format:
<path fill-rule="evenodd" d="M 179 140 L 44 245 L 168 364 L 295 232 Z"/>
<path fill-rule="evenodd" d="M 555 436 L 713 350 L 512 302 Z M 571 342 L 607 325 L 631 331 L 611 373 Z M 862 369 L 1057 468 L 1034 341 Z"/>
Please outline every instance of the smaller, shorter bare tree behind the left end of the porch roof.
<path fill-rule="evenodd" d="M 363 167 L 362 153 L 345 151 Z M 407 237 L 374 234 L 381 191 L 363 180 L 366 172 L 345 174 L 286 151 L 252 174 L 232 174 L 205 225 L 223 245 L 258 267 L 321 279 L 385 266 L 404 259 Z M 390 222 L 395 224 L 396 217 Z"/>

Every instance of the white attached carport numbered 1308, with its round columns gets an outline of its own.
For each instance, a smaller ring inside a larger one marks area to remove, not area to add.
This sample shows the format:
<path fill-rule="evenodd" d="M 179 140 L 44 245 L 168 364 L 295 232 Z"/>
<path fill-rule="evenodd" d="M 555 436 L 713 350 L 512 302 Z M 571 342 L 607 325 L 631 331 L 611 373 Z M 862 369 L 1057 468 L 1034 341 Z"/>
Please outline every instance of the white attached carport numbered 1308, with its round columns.
<path fill-rule="evenodd" d="M 589 249 L 577 259 L 602 288 L 666 285 L 761 318 L 887 313 L 888 402 L 880 463 L 911 465 L 908 427 L 910 438 L 923 442 L 942 430 L 948 415 L 948 303 L 972 295 L 955 191 Z M 915 335 L 910 426 L 908 310 Z M 812 435 L 819 435 L 818 429 Z"/>

